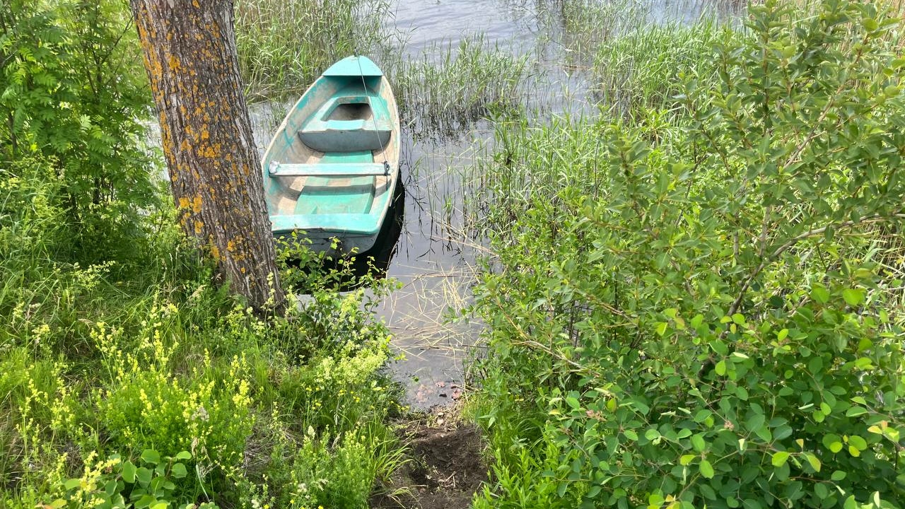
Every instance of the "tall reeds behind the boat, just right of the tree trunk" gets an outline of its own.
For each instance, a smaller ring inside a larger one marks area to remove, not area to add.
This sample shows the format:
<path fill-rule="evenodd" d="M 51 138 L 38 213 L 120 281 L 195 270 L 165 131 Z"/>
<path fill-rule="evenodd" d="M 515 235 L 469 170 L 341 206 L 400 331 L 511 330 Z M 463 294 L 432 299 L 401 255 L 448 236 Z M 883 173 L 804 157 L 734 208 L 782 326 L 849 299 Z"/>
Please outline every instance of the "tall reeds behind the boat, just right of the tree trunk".
<path fill-rule="evenodd" d="M 350 54 L 375 55 L 398 43 L 385 28 L 388 0 L 238 0 L 239 71 L 250 101 L 305 91 Z"/>

